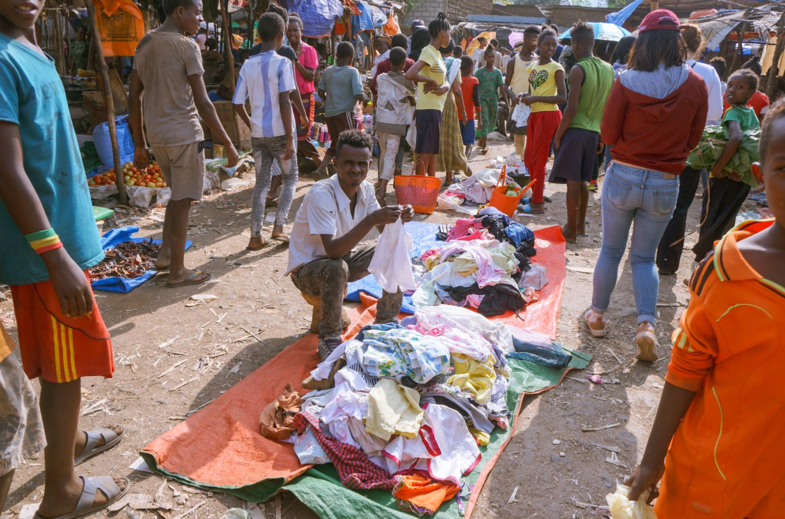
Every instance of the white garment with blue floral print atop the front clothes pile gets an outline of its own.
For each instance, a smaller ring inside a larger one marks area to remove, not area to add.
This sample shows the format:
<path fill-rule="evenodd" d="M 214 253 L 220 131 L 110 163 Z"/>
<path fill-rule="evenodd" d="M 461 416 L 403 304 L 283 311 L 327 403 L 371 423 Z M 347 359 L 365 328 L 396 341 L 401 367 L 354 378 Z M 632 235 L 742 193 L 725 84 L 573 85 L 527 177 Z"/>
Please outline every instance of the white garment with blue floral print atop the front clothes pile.
<path fill-rule="evenodd" d="M 450 350 L 435 338 L 406 328 L 371 329 L 364 331 L 360 364 L 372 377 L 407 375 L 423 384 L 450 369 Z"/>

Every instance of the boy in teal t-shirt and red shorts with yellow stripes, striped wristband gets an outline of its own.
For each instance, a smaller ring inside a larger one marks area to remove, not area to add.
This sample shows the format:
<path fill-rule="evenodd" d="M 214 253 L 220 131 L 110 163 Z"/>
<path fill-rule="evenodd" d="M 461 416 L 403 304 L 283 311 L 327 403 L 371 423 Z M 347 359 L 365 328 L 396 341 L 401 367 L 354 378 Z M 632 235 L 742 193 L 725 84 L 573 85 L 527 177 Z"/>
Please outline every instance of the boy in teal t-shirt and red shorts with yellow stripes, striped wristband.
<path fill-rule="evenodd" d="M 11 285 L 24 371 L 41 382 L 47 447 L 38 514 L 57 517 L 107 506 L 130 481 L 74 471 L 123 431 L 79 433 L 80 378 L 111 377 L 114 364 L 86 271 L 104 253 L 85 170 L 60 76 L 36 43 L 42 8 L 43 0 L 0 2 L 0 283 Z M 10 441 L 3 447 L 9 455 Z M 2 476 L 0 492 L 12 476 Z"/>

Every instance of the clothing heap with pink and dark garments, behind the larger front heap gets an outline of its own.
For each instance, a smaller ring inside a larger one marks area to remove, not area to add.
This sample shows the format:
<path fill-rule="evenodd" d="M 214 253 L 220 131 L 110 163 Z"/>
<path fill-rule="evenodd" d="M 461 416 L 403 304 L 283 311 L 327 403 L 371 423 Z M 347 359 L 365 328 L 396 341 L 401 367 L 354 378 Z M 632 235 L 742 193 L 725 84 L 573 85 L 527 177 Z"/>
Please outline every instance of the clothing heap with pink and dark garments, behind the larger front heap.
<path fill-rule="evenodd" d="M 443 303 L 498 316 L 535 301 L 548 282 L 545 267 L 531 263 L 534 232 L 494 207 L 441 226 L 436 237 L 444 246 L 413 259 L 422 265 L 414 267 L 418 289 L 411 296 L 418 308 Z"/>

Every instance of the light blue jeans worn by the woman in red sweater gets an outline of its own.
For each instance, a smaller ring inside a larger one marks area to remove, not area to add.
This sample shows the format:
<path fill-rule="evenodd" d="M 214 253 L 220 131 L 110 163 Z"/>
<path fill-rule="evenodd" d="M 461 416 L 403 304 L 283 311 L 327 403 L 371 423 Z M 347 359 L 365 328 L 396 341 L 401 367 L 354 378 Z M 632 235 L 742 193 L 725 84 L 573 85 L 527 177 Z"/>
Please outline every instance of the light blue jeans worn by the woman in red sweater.
<path fill-rule="evenodd" d="M 633 239 L 630 264 L 638 324 L 657 318 L 659 277 L 655 266 L 657 245 L 674 214 L 679 177 L 612 162 L 602 185 L 602 247 L 594 268 L 592 308 L 604 313 L 627 248 L 630 225 Z"/>

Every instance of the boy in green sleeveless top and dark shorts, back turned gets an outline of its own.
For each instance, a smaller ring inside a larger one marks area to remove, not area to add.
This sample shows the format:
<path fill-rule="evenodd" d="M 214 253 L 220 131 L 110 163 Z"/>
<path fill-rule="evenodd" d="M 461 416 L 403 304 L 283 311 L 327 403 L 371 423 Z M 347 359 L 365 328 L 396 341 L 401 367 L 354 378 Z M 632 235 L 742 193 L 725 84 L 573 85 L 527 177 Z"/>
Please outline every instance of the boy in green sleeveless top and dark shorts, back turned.
<path fill-rule="evenodd" d="M 613 86 L 613 68 L 593 56 L 594 29 L 579 21 L 570 32 L 572 53 L 578 63 L 570 70 L 567 108 L 553 139 L 549 181 L 567 184 L 567 225 L 561 229 L 570 243 L 586 236 L 587 182 L 592 180 L 600 144 L 600 122 Z"/>

